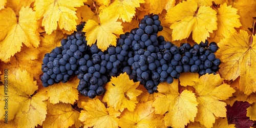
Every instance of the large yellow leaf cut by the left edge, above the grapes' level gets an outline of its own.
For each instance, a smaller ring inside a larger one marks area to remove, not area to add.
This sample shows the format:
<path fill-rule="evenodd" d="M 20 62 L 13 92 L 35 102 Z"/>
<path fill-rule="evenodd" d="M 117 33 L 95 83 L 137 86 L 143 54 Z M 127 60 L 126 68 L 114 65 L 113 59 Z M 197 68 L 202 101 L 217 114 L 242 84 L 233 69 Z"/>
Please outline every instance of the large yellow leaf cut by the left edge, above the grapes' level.
<path fill-rule="evenodd" d="M 22 43 L 28 47 L 38 47 L 39 33 L 35 12 L 31 8 L 22 8 L 17 17 L 11 8 L 0 11 L 0 59 L 7 60 L 20 51 Z"/>

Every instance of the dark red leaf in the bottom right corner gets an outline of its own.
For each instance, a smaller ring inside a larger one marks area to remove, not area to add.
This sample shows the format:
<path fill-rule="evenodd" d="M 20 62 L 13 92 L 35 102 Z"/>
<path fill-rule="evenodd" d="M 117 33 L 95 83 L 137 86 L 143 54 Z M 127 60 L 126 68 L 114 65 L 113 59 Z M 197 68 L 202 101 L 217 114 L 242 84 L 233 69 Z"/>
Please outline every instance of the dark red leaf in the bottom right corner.
<path fill-rule="evenodd" d="M 233 106 L 227 105 L 227 119 L 229 124 L 236 124 L 236 127 L 250 127 L 255 121 L 246 116 L 248 102 L 236 101 Z"/>

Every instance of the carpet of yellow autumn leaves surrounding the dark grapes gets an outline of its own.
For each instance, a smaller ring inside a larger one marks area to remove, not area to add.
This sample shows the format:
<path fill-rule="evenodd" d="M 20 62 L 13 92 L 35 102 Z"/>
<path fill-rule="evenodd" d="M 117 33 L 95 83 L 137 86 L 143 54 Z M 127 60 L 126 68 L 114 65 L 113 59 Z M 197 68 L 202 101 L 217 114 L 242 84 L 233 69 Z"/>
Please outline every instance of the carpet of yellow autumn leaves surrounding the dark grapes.
<path fill-rule="evenodd" d="M 254 0 L 4 0 L 0 9 L 2 82 L 9 70 L 8 124 L 0 82 L 0 127 L 256 127 Z M 77 24 L 87 22 L 88 44 L 97 40 L 106 50 L 151 13 L 164 27 L 158 35 L 177 46 L 216 41 L 222 61 L 217 75 L 183 73 L 148 94 L 124 73 L 95 99 L 78 94 L 75 76 L 42 87 L 42 58 Z"/>

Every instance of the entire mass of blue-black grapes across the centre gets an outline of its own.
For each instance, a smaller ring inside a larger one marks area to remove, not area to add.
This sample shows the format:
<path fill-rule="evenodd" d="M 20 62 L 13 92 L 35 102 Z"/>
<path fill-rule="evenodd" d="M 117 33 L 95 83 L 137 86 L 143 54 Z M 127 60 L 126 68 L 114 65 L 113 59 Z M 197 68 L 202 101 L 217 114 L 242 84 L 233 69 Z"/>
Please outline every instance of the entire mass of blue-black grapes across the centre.
<path fill-rule="evenodd" d="M 139 81 L 152 94 L 160 82 L 172 83 L 180 73 L 191 72 L 204 75 L 218 71 L 221 63 L 216 58 L 216 42 L 201 42 L 191 46 L 188 43 L 175 46 L 165 41 L 158 32 L 163 30 L 158 15 L 145 15 L 138 28 L 121 34 L 116 46 L 101 51 L 96 44 L 87 45 L 83 29 L 61 40 L 44 57 L 41 81 L 44 87 L 54 83 L 67 82 L 76 74 L 77 90 L 84 96 L 95 98 L 105 92 L 103 85 L 111 76 L 126 72 L 130 79 Z M 97 42 L 96 42 L 97 43 Z"/>

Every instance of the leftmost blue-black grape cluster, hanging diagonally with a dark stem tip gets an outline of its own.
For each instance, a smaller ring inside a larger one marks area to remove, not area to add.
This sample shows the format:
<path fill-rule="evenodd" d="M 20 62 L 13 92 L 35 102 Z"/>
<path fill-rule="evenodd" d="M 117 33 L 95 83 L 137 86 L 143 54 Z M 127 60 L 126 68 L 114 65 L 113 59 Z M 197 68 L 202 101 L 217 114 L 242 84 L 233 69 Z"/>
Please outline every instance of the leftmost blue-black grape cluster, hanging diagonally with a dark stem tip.
<path fill-rule="evenodd" d="M 46 53 L 42 59 L 41 76 L 42 85 L 48 87 L 60 81 L 65 83 L 78 69 L 78 60 L 87 50 L 86 37 L 81 32 L 85 23 L 77 26 L 77 32 L 68 35 L 61 40 L 61 46 L 56 47 L 50 53 Z"/>

